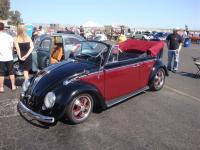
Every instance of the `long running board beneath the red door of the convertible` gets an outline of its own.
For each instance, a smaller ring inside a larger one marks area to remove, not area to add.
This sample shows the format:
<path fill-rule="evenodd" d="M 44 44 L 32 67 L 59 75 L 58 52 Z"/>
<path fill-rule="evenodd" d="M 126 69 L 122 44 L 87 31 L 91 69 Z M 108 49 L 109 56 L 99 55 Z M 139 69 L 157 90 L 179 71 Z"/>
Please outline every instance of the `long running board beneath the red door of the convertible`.
<path fill-rule="evenodd" d="M 144 92 L 144 91 L 146 91 L 148 89 L 149 89 L 149 86 L 146 86 L 146 87 L 144 87 L 144 88 L 142 88 L 140 90 L 137 90 L 136 92 L 130 93 L 130 94 L 126 95 L 126 96 L 121 96 L 119 98 L 109 100 L 108 102 L 106 102 L 106 106 L 107 107 L 111 107 L 113 105 L 116 105 L 116 104 L 118 104 L 120 102 L 123 102 L 123 101 L 125 101 L 126 99 L 128 99 L 130 97 L 138 95 L 139 93 Z"/>

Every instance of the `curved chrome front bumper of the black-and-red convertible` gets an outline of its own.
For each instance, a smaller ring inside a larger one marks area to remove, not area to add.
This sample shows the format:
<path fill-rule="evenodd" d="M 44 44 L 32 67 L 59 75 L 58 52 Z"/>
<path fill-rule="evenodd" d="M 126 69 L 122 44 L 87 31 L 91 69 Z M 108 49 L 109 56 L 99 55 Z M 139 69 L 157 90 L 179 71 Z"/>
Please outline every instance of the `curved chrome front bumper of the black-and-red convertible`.
<path fill-rule="evenodd" d="M 38 113 L 32 111 L 31 109 L 27 108 L 21 101 L 18 103 L 17 108 L 21 114 L 27 114 L 32 119 L 35 119 L 35 120 L 38 120 L 41 122 L 46 122 L 46 123 L 54 123 L 55 122 L 54 117 L 43 116 L 41 114 L 38 114 Z"/>

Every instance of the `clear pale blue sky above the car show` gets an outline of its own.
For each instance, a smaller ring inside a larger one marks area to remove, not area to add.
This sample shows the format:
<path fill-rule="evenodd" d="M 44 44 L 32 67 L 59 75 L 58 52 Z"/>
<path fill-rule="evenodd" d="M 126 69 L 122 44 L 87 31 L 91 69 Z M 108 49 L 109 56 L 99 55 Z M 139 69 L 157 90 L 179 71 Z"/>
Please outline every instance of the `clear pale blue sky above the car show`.
<path fill-rule="evenodd" d="M 199 0 L 11 0 L 25 23 L 200 29 Z"/>

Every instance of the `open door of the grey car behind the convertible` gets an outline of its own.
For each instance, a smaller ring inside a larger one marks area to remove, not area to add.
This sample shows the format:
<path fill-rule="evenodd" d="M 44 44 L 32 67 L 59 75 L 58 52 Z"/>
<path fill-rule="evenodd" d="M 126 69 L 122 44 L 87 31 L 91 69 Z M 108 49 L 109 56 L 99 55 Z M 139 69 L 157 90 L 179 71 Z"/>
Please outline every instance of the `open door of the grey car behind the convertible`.
<path fill-rule="evenodd" d="M 50 64 L 51 49 L 52 39 L 50 37 L 43 39 L 36 50 L 38 69 L 43 69 Z"/>

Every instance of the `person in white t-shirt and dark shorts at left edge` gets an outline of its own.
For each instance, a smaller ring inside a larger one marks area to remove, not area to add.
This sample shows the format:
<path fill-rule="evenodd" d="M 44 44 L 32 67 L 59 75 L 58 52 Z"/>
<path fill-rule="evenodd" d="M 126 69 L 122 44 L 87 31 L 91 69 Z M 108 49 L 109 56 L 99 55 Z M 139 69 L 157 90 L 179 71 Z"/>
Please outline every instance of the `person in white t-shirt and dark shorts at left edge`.
<path fill-rule="evenodd" d="M 4 92 L 4 76 L 6 70 L 11 81 L 11 89 L 16 90 L 13 68 L 13 38 L 4 32 L 4 24 L 0 22 L 0 92 Z"/>

